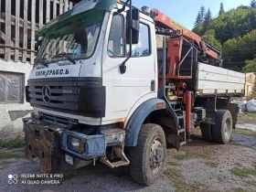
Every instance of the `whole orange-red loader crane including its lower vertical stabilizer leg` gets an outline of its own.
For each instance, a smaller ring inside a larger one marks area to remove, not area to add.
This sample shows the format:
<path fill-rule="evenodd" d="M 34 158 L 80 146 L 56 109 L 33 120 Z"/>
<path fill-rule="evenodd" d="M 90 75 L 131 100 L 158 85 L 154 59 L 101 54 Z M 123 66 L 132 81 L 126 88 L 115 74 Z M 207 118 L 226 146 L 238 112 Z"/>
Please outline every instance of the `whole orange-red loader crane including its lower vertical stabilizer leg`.
<path fill-rule="evenodd" d="M 187 139 L 190 139 L 191 133 L 191 106 L 193 91 L 185 91 L 187 87 L 187 80 L 193 78 L 193 68 L 197 65 L 198 59 L 213 59 L 217 63 L 221 63 L 221 51 L 218 48 L 211 46 L 207 41 L 203 40 L 196 33 L 178 24 L 172 18 L 165 16 L 162 12 L 157 9 L 153 9 L 151 16 L 155 20 L 156 34 L 162 34 L 170 37 L 168 42 L 168 69 L 162 72 L 159 69 L 159 89 L 165 89 L 165 83 L 174 82 L 174 89 L 177 92 L 179 101 L 183 101 L 186 106 L 186 131 Z M 188 45 L 188 48 L 187 48 Z M 165 46 L 163 48 L 163 52 Z M 197 56 L 194 58 L 196 51 Z M 187 57 L 189 54 L 190 58 Z M 187 61 L 186 61 L 187 58 Z M 165 63 L 165 62 L 164 62 Z M 182 66 L 183 65 L 183 69 Z M 184 68 L 185 67 L 185 68 Z M 186 73 L 182 73 L 184 70 Z M 170 90 L 169 92 L 173 92 Z M 165 93 L 164 93 L 165 95 Z"/>

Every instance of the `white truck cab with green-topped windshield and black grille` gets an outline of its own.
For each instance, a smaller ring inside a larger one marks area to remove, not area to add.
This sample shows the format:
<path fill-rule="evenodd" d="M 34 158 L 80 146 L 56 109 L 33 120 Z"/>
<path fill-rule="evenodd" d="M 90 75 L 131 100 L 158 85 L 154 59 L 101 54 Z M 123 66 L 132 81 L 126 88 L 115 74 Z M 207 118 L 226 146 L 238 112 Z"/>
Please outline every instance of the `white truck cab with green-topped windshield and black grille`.
<path fill-rule="evenodd" d="M 154 21 L 140 15 L 139 40 L 122 74 L 119 67 L 129 51 L 126 12 L 117 12 L 120 4 L 80 11 L 90 5 L 77 5 L 39 32 L 44 38 L 28 85 L 38 87 L 29 91 L 37 97 L 28 100 L 40 112 L 80 123 L 124 123 L 141 103 L 157 97 Z M 44 97 L 45 91 L 52 97 Z"/>

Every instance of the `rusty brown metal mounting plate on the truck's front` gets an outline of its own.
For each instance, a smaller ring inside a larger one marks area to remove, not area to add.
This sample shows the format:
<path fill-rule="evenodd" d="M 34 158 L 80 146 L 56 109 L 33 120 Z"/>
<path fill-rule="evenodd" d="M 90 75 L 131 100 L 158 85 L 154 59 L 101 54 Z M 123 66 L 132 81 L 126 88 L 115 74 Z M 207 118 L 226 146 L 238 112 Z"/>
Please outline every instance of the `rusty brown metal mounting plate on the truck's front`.
<path fill-rule="evenodd" d="M 54 128 L 30 123 L 25 130 L 25 157 L 33 162 L 40 159 L 42 173 L 54 173 L 61 164 L 60 135 Z"/>

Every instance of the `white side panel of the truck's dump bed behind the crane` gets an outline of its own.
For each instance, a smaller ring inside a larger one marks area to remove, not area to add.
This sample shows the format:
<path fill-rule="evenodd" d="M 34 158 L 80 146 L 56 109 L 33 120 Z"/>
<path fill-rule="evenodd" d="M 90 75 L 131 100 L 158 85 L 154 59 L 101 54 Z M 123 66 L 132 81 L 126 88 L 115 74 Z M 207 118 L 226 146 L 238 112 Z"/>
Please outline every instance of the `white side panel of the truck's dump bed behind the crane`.
<path fill-rule="evenodd" d="M 242 95 L 244 86 L 244 73 L 198 63 L 198 94 Z"/>

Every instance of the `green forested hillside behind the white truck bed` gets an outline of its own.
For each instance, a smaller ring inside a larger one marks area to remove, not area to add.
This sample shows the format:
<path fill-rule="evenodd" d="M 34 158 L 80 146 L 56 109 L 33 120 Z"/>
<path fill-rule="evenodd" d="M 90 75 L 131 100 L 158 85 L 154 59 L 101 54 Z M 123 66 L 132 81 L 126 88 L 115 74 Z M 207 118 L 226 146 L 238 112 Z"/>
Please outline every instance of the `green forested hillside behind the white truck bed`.
<path fill-rule="evenodd" d="M 222 50 L 224 68 L 256 72 L 256 1 L 227 12 L 224 8 L 220 4 L 219 16 L 212 18 L 202 6 L 193 31 Z"/>

